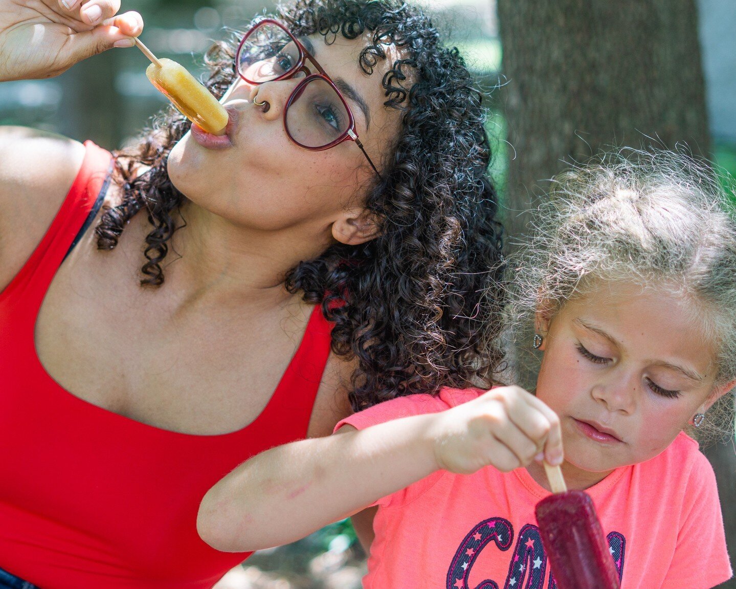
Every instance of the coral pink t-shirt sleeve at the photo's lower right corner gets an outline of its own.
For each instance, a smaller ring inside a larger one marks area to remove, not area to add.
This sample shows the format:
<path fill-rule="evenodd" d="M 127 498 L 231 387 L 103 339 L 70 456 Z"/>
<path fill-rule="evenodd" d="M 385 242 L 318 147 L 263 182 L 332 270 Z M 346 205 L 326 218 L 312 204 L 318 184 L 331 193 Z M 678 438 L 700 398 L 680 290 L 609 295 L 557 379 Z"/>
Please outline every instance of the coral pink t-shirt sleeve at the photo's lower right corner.
<path fill-rule="evenodd" d="M 662 589 L 711 589 L 733 575 L 715 474 L 698 452 L 687 479 L 675 554 Z"/>

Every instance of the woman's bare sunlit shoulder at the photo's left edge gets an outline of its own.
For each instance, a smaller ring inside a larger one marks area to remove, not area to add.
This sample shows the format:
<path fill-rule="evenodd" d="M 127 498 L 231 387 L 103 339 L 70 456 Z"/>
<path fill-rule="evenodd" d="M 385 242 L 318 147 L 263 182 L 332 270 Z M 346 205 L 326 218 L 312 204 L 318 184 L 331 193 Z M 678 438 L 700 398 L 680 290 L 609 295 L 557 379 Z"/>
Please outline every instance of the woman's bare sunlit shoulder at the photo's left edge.
<path fill-rule="evenodd" d="M 0 127 L 0 291 L 43 238 L 84 156 L 79 141 Z"/>

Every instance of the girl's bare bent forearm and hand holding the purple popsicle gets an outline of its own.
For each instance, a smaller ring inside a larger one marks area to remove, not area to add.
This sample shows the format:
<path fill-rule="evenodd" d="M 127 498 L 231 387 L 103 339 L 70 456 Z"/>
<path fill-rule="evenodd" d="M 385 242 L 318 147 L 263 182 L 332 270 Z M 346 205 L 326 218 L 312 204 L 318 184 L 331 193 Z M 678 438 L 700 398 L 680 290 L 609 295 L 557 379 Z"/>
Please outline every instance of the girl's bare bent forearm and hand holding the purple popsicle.
<path fill-rule="evenodd" d="M 345 518 L 435 470 L 509 471 L 539 457 L 562 462 L 557 416 L 518 387 L 500 387 L 439 413 L 272 448 L 212 487 L 199 535 L 239 552 L 279 546 Z"/>

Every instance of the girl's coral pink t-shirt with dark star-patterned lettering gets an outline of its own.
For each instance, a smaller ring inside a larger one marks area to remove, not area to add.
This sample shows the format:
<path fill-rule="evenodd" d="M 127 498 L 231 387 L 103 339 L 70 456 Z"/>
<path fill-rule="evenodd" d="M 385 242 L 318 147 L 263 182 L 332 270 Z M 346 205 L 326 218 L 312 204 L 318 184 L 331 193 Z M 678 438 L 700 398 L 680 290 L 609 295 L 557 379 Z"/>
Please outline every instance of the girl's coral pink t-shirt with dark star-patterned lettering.
<path fill-rule="evenodd" d="M 342 420 L 363 429 L 439 412 L 482 391 L 411 395 Z M 679 434 L 659 456 L 587 490 L 621 589 L 710 589 L 732 576 L 715 476 Z M 548 491 L 526 469 L 440 470 L 379 501 L 364 589 L 555 589 L 534 506 Z"/>

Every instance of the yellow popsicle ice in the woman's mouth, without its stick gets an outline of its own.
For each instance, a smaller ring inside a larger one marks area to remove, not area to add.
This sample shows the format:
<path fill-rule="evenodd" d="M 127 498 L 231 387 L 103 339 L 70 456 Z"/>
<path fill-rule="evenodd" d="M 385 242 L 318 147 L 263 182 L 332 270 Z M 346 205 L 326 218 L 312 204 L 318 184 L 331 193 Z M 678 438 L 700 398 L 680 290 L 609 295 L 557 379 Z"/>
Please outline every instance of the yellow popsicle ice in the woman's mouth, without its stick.
<path fill-rule="evenodd" d="M 146 68 L 146 76 L 187 119 L 208 133 L 224 135 L 227 110 L 184 66 L 160 57 Z"/>

